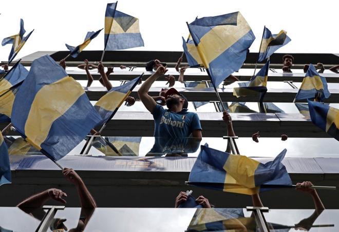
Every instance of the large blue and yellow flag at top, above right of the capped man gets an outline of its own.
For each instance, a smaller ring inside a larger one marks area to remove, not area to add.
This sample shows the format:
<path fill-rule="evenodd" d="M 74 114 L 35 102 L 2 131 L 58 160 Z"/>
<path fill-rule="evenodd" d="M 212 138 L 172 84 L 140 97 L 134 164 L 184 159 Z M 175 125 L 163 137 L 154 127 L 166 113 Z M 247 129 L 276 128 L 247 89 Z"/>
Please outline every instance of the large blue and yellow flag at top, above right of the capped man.
<path fill-rule="evenodd" d="M 189 26 L 201 61 L 215 88 L 246 59 L 255 36 L 240 12 L 198 18 Z"/>

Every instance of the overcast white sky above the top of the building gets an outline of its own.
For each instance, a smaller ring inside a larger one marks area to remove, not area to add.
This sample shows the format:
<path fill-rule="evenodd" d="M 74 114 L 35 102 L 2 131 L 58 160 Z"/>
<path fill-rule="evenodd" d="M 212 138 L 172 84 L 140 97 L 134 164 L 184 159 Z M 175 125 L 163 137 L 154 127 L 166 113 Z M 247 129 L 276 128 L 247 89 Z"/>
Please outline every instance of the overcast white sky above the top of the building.
<path fill-rule="evenodd" d="M 110 1 L 113 2 L 113 1 Z M 18 33 L 20 18 L 27 33 L 35 29 L 17 57 L 35 51 L 66 50 L 65 43 L 80 44 L 87 31 L 104 27 L 107 1 L 4 1 L 0 8 L 0 39 Z M 186 21 L 196 16 L 214 16 L 240 11 L 250 24 L 256 40 L 251 51 L 259 50 L 263 26 L 272 33 L 281 29 L 292 41 L 278 52 L 339 53 L 336 1 L 216 1 L 216 0 L 121 0 L 117 9 L 138 17 L 145 47 L 131 50 L 181 51 L 181 36 L 187 36 Z M 102 50 L 104 33 L 86 50 Z M 0 48 L 0 60 L 7 61 L 11 45 Z"/>

